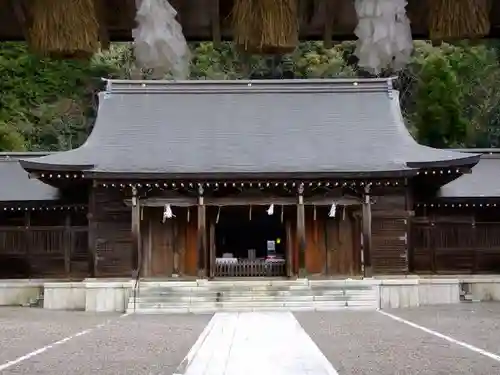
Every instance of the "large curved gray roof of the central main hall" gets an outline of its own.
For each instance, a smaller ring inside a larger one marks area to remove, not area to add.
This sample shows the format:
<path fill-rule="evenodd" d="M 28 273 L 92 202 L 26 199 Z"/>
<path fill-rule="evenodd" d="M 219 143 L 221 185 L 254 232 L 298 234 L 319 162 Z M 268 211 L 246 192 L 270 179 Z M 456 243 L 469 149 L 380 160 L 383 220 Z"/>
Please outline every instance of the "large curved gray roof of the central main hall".
<path fill-rule="evenodd" d="M 417 144 L 387 79 L 109 81 L 82 147 L 22 164 L 172 177 L 333 176 L 477 159 Z"/>

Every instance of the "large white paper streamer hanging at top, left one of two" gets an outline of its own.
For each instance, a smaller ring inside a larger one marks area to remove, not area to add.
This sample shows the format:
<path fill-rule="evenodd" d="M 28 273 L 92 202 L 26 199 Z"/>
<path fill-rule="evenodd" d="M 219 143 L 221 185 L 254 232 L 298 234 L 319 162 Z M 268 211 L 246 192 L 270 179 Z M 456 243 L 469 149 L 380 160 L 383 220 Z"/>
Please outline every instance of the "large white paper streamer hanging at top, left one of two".
<path fill-rule="evenodd" d="M 158 78 L 171 73 L 174 79 L 186 79 L 191 55 L 176 10 L 167 0 L 136 0 L 136 7 L 132 37 L 137 63 Z"/>

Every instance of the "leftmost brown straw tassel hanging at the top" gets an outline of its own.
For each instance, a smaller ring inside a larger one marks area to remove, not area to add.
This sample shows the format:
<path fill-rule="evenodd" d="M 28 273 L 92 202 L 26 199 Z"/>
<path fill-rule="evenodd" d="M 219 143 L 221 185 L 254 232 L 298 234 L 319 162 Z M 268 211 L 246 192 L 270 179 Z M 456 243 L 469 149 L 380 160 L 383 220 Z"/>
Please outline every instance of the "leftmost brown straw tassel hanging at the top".
<path fill-rule="evenodd" d="M 99 49 L 94 0 L 33 0 L 30 47 L 39 54 L 89 58 Z"/>

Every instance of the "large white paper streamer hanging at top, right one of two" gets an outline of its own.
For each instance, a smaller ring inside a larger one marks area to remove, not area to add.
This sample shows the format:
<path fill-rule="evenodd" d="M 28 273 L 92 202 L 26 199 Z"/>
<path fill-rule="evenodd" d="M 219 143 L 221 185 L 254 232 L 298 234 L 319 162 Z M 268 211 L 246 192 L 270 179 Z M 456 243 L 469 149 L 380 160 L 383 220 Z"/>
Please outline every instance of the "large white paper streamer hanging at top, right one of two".
<path fill-rule="evenodd" d="M 358 65 L 372 74 L 403 69 L 413 51 L 407 0 L 355 0 Z"/>

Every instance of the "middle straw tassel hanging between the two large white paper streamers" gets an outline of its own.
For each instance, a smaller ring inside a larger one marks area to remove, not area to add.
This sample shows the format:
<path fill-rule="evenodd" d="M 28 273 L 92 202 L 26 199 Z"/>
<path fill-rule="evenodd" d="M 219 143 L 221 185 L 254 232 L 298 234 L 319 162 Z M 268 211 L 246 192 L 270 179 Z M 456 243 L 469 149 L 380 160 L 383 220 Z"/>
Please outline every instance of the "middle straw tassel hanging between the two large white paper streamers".
<path fill-rule="evenodd" d="M 247 52 L 292 52 L 299 41 L 297 0 L 235 0 L 234 41 Z"/>

